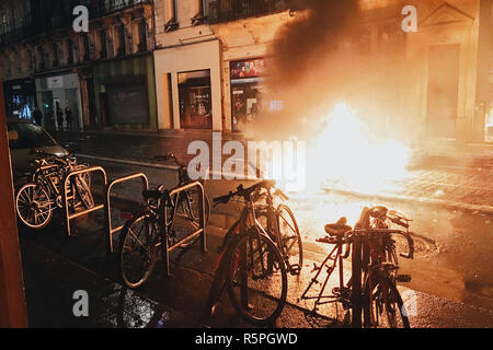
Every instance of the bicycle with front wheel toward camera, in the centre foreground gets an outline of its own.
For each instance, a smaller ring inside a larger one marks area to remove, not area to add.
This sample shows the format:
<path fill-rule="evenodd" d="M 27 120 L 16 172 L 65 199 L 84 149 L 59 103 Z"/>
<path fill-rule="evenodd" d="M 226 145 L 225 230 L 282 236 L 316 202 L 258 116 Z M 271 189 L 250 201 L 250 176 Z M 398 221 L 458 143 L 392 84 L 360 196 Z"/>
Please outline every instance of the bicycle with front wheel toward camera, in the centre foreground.
<path fill-rule="evenodd" d="M 280 315 L 287 298 L 286 262 L 259 222 L 254 205 L 259 191 L 270 191 L 274 185 L 272 180 L 249 188 L 240 185 L 234 192 L 214 199 L 216 205 L 225 205 L 239 197 L 245 206 L 223 238 L 206 304 L 208 316 L 214 314 L 225 289 L 234 310 L 253 325 L 273 324 Z"/>

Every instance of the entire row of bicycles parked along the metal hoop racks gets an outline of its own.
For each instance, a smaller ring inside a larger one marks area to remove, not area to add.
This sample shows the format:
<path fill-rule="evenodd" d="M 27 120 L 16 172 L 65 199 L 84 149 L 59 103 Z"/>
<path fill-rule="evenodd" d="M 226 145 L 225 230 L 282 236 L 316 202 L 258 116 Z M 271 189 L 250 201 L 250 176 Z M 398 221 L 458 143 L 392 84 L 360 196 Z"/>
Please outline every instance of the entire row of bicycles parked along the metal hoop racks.
<path fill-rule="evenodd" d="M 89 165 L 78 164 L 72 155 L 38 156 L 26 174 L 28 182 L 16 192 L 20 221 L 31 229 L 42 229 L 57 208 L 68 206 L 64 208 L 67 212 L 89 212 L 94 207 Z M 147 188 L 142 191 L 142 205 L 122 213 L 125 224 L 119 230 L 117 265 L 122 281 L 131 289 L 141 288 L 149 280 L 160 253 L 169 273 L 170 252 L 188 248 L 198 238 L 203 250 L 206 248 L 210 203 L 204 184 L 192 182 L 187 166 L 173 153 L 154 158 L 170 160 L 179 165 L 177 187 Z M 214 317 L 227 295 L 243 319 L 268 326 L 287 303 L 288 275 L 306 272 L 300 230 L 286 203 L 288 197 L 274 180 L 261 180 L 248 188 L 240 185 L 214 202 L 218 206 L 232 200 L 238 203 L 238 219 L 219 247 L 206 315 Z M 105 205 L 110 206 L 108 201 Z M 397 211 L 375 207 L 364 208 L 354 229 L 345 218 L 326 224 L 326 235 L 318 242 L 331 245 L 330 253 L 313 268 L 313 277 L 300 296 L 310 313 L 317 315 L 320 307 L 334 303 L 351 313 L 354 327 L 410 327 L 397 283 L 410 281 L 411 277 L 399 273 L 395 244 L 395 236 L 405 237 L 408 253 L 401 256 L 413 257 L 410 221 Z M 107 230 L 111 236 L 111 225 Z M 344 260 L 349 258 L 352 276 L 346 281 Z M 339 287 L 326 291 L 336 269 Z"/>

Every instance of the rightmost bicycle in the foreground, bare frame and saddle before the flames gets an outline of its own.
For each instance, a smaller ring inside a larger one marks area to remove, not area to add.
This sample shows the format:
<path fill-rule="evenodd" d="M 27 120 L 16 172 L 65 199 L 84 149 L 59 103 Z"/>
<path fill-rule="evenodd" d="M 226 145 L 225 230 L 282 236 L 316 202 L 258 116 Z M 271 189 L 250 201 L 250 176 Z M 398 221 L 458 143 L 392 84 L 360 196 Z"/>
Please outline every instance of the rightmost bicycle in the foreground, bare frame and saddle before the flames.
<path fill-rule="evenodd" d="M 374 220 L 370 221 L 370 218 Z M 398 275 L 399 262 L 395 253 L 395 241 L 392 235 L 401 235 L 406 240 L 408 254 L 413 258 L 414 243 L 409 232 L 409 219 L 385 207 L 364 208 L 358 222 L 353 230 L 341 218 L 333 224 L 325 225 L 328 236 L 318 242 L 334 244 L 334 247 L 320 266 L 316 266 L 316 276 L 301 295 L 302 300 L 314 300 L 312 313 L 319 306 L 340 302 L 344 310 L 353 311 L 353 325 L 360 326 L 363 311 L 364 327 L 403 327 L 409 328 L 408 313 L 402 298 L 395 287 L 397 282 L 409 282 L 409 275 Z M 391 223 L 405 228 L 406 231 L 390 229 Z M 344 254 L 343 247 L 345 246 Z M 344 259 L 352 254 L 352 276 L 344 283 Z M 339 287 L 332 294 L 324 294 L 329 279 L 339 268 Z M 323 269 L 326 275 L 317 295 L 308 295 L 314 284 L 320 284 L 319 277 Z M 385 314 L 386 322 L 381 316 Z"/>

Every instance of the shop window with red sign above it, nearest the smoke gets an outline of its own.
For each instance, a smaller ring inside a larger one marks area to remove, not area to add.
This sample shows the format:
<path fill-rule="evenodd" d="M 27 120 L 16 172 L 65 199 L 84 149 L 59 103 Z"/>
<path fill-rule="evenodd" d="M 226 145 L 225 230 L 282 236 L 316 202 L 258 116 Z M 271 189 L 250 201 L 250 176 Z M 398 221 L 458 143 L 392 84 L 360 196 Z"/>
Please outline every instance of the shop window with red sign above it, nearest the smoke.
<path fill-rule="evenodd" d="M 243 131 L 246 124 L 257 118 L 262 108 L 264 70 L 263 58 L 230 62 L 233 131 Z"/>

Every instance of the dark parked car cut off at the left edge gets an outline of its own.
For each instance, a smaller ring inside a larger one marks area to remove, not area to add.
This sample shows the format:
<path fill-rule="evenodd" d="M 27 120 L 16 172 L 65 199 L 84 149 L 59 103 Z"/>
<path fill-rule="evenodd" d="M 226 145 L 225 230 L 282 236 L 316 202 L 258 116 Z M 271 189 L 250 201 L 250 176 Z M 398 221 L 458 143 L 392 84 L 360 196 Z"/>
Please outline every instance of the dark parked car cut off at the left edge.
<path fill-rule="evenodd" d="M 14 182 L 30 170 L 30 162 L 36 158 L 36 151 L 57 156 L 69 154 L 43 127 L 26 119 L 7 118 L 7 128 Z"/>

